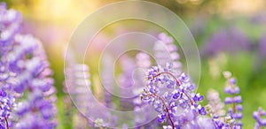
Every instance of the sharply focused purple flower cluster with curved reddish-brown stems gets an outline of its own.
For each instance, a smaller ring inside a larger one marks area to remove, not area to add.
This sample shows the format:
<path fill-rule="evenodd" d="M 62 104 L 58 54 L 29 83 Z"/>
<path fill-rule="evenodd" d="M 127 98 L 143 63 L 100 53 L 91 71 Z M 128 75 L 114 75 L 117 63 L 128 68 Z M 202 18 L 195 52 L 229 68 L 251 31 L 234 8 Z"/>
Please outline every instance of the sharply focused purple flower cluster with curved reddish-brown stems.
<path fill-rule="evenodd" d="M 149 69 L 142 100 L 152 104 L 159 112 L 158 121 L 169 122 L 164 128 L 199 128 L 202 121 L 209 124 L 208 128 L 215 128 L 211 119 L 200 118 L 207 114 L 199 103 L 204 97 L 194 94 L 196 87 L 188 75 L 175 76 L 175 70 L 171 64 Z"/>

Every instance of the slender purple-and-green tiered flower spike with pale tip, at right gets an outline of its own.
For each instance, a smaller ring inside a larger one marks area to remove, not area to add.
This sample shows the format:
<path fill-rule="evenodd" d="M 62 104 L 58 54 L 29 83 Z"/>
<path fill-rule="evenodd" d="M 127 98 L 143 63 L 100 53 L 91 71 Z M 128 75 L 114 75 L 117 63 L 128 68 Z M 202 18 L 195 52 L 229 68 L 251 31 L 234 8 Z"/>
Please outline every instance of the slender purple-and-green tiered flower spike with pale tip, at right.
<path fill-rule="evenodd" d="M 226 97 L 225 104 L 231 104 L 231 108 L 228 109 L 228 115 L 237 120 L 237 123 L 228 123 L 230 126 L 242 128 L 243 124 L 241 119 L 243 118 L 241 105 L 242 97 L 239 95 L 240 89 L 236 85 L 237 81 L 235 78 L 231 77 L 231 72 L 223 72 L 224 78 L 227 80 L 224 92 L 230 96 Z"/>

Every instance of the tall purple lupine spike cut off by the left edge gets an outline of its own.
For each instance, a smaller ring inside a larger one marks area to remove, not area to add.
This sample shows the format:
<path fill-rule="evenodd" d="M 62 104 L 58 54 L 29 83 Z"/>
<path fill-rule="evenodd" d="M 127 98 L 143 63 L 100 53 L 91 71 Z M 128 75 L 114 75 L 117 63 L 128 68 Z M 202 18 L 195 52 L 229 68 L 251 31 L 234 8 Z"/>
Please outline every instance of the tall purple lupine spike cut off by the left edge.
<path fill-rule="evenodd" d="M 20 13 L 7 10 L 6 4 L 0 3 L 0 127 L 10 128 L 13 126 L 15 98 L 12 96 L 12 78 L 17 73 L 11 72 L 7 55 L 14 48 L 14 36 L 19 33 Z"/>

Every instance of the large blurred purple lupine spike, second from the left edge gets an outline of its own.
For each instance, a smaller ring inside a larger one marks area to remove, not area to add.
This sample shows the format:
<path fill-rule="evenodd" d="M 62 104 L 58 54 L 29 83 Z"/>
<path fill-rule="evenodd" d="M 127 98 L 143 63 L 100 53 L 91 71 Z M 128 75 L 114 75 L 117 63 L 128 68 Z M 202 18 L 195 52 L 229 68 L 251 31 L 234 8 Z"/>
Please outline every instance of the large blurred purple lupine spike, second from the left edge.
<path fill-rule="evenodd" d="M 57 113 L 55 101 L 57 98 L 54 94 L 56 89 L 53 87 L 52 72 L 45 57 L 43 46 L 31 35 L 17 35 L 16 42 L 21 43 L 21 45 L 25 44 L 22 47 L 26 50 L 25 54 L 31 55 L 29 59 L 22 60 L 19 58 L 20 61 L 13 65 L 24 70 L 17 75 L 16 79 L 19 80 L 13 87 L 14 91 L 18 94 L 28 92 L 27 99 L 18 104 L 16 111 L 19 121 L 16 128 L 55 128 L 54 117 Z M 35 50 L 33 51 L 33 49 Z M 12 53 L 10 55 L 13 56 Z M 29 117 L 33 118 L 29 119 Z"/>

